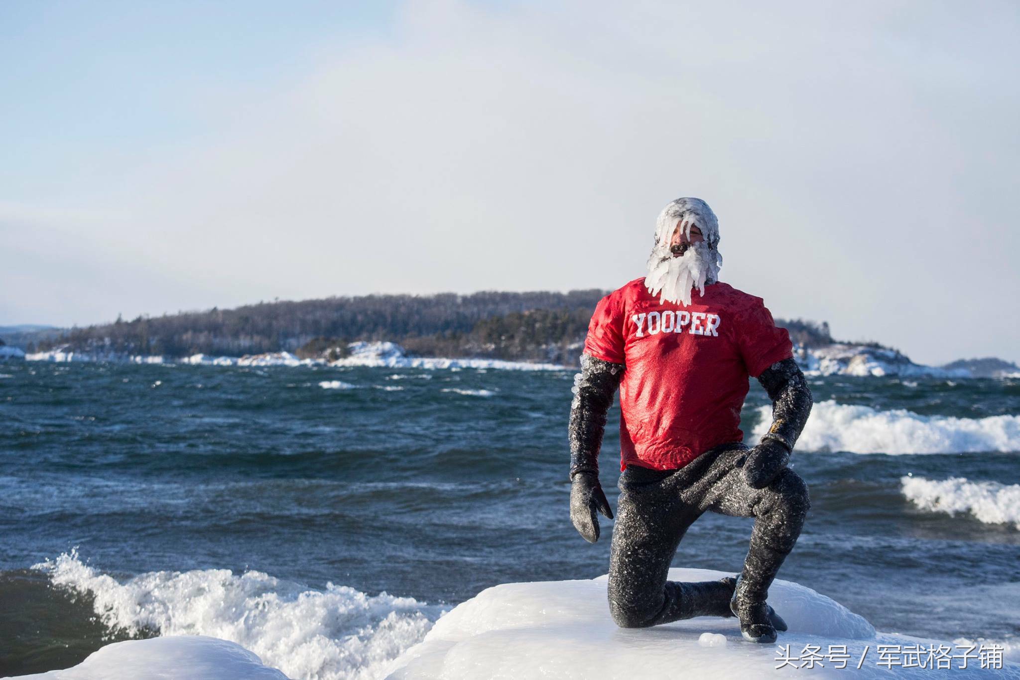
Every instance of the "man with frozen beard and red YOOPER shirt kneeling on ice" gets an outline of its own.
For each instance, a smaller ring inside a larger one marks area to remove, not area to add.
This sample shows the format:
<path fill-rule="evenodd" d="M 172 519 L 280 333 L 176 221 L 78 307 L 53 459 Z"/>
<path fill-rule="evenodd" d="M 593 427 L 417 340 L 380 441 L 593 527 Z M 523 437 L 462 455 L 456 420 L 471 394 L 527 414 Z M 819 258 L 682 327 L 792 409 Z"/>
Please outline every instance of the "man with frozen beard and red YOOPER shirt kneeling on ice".
<path fill-rule="evenodd" d="M 598 510 L 612 519 L 598 456 L 620 389 L 618 518 L 609 610 L 620 626 L 736 616 L 744 637 L 773 642 L 786 624 L 766 604 L 810 507 L 786 467 L 811 412 L 811 390 L 761 298 L 718 280 L 719 226 L 701 199 L 659 215 L 648 275 L 603 298 L 588 330 L 570 410 L 570 519 L 590 542 Z M 696 290 L 697 289 L 697 290 Z M 756 377 L 772 400 L 772 426 L 749 449 L 738 425 Z M 754 517 L 740 577 L 666 580 L 687 527 L 705 511 Z"/>

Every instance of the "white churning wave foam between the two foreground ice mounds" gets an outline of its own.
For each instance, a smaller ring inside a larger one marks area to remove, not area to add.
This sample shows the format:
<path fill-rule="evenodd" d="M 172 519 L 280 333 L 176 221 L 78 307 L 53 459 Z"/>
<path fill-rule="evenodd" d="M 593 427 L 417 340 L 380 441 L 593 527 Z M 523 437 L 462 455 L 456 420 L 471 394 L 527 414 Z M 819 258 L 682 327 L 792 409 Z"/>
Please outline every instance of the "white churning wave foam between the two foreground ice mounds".
<path fill-rule="evenodd" d="M 257 571 L 160 571 L 120 582 L 74 552 L 34 568 L 56 586 L 90 593 L 111 629 L 228 640 L 296 680 L 379 678 L 441 614 L 411 597 L 332 583 L 312 590 Z"/>

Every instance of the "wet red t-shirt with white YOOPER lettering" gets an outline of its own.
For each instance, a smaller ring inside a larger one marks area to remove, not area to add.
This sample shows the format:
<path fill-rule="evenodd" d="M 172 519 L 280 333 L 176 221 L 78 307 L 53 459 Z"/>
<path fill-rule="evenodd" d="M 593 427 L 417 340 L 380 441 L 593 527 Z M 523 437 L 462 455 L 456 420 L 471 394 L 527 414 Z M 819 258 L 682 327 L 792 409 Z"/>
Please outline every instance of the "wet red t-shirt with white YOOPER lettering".
<path fill-rule="evenodd" d="M 794 356 L 761 298 L 728 283 L 693 291 L 691 305 L 660 303 L 635 278 L 599 301 L 584 353 L 624 364 L 620 469 L 681 468 L 741 441 L 748 376 Z"/>

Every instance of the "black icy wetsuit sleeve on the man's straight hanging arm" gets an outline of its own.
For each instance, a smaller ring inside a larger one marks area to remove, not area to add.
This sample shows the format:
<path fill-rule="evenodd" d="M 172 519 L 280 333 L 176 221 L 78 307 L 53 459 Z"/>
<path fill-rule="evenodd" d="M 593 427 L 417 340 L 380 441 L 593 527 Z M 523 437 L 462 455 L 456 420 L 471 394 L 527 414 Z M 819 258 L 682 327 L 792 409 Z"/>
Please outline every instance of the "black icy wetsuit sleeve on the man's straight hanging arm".
<path fill-rule="evenodd" d="M 624 365 L 582 354 L 580 373 L 574 376 L 570 404 L 570 478 L 578 472 L 599 473 L 599 450 L 606 430 L 606 415 L 620 384 Z"/>

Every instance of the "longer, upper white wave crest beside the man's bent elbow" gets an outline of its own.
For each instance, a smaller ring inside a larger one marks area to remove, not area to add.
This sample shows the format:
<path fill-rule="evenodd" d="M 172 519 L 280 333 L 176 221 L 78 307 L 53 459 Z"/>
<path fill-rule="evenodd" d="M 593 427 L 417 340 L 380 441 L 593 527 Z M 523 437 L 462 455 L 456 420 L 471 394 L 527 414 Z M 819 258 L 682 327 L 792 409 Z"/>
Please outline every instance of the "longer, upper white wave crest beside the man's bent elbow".
<path fill-rule="evenodd" d="M 758 416 L 755 439 L 768 430 L 772 408 L 759 408 Z M 922 416 L 903 409 L 878 411 L 830 400 L 811 409 L 797 448 L 856 454 L 1015 452 L 1020 451 L 1020 416 Z"/>

